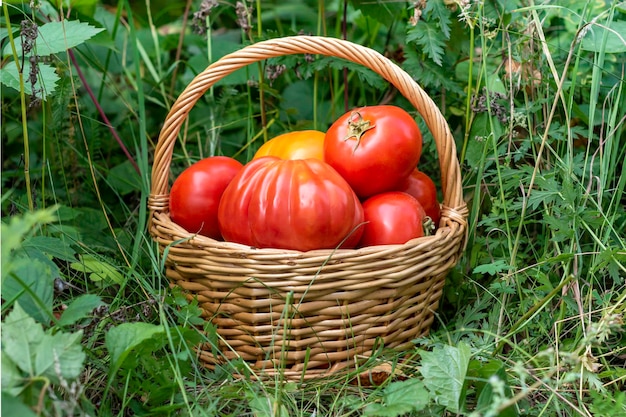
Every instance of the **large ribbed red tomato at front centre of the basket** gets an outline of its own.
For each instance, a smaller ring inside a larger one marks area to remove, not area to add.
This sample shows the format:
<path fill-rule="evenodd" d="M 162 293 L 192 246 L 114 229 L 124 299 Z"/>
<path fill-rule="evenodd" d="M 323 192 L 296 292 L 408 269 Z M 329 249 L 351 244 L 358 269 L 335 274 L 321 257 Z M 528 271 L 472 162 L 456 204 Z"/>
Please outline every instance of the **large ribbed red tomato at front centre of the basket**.
<path fill-rule="evenodd" d="M 307 251 L 355 247 L 363 207 L 348 183 L 317 159 L 254 159 L 224 191 L 218 220 L 225 240 Z"/>

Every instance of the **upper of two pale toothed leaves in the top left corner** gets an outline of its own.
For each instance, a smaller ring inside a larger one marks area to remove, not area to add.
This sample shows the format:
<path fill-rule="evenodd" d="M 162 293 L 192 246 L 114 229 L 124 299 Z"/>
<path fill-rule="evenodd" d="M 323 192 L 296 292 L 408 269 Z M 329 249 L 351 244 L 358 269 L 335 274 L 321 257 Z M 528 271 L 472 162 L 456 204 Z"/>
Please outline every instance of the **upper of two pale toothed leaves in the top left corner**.
<path fill-rule="evenodd" d="M 39 56 L 48 56 L 73 48 L 102 32 L 103 28 L 96 28 L 89 23 L 78 20 L 62 20 L 46 23 L 39 26 L 35 41 L 35 53 Z M 16 44 L 17 54 L 22 55 L 22 45 Z M 4 47 L 3 56 L 13 55 L 11 45 Z"/>

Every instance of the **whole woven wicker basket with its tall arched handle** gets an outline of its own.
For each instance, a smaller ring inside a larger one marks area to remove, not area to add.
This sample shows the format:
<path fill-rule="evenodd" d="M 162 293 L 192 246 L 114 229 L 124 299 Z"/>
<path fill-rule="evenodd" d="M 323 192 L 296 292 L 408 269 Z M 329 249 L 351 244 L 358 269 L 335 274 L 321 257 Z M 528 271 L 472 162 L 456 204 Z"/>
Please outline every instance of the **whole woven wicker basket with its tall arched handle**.
<path fill-rule="evenodd" d="M 170 163 L 189 111 L 217 81 L 251 63 L 290 54 L 347 59 L 380 74 L 424 118 L 437 145 L 442 216 L 434 236 L 404 245 L 298 252 L 256 249 L 192 235 L 168 213 Z M 395 350 L 425 335 L 446 273 L 467 232 L 456 147 L 428 95 L 389 59 L 334 38 L 272 39 L 223 57 L 187 86 L 165 119 L 155 150 L 150 233 L 166 254 L 172 286 L 198 299 L 217 328 L 219 346 L 198 347 L 209 368 L 241 358 L 257 377 L 310 380 L 354 369 L 380 346 Z"/>

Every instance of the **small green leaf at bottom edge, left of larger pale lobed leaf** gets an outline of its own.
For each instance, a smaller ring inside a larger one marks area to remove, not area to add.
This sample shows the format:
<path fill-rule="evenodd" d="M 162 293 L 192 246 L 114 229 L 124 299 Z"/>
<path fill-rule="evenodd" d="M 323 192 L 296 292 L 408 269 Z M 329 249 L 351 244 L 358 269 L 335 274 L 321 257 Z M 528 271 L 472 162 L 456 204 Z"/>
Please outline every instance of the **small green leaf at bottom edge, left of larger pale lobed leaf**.
<path fill-rule="evenodd" d="M 419 379 L 392 382 L 383 390 L 382 403 L 372 403 L 365 408 L 364 416 L 397 417 L 421 411 L 431 397 Z"/>

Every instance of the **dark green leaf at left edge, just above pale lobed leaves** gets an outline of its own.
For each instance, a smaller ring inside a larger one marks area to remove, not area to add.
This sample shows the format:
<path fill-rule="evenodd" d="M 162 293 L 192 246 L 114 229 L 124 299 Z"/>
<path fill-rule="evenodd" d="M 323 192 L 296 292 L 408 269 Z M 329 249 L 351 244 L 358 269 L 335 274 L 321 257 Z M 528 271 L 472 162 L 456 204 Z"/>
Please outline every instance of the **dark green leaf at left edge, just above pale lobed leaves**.
<path fill-rule="evenodd" d="M 19 301 L 24 311 L 39 322 L 50 320 L 55 275 L 51 265 L 36 258 L 12 261 L 12 272 L 2 281 L 2 298 Z"/>

